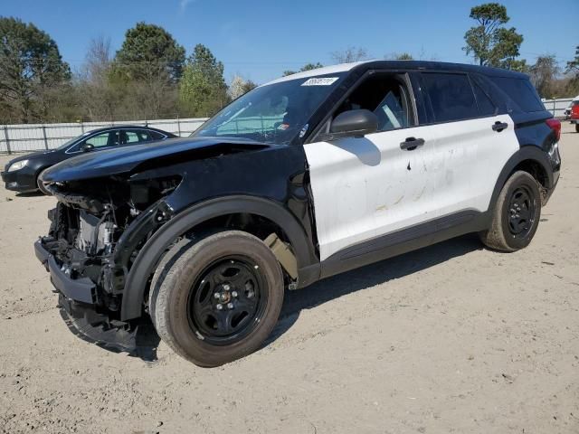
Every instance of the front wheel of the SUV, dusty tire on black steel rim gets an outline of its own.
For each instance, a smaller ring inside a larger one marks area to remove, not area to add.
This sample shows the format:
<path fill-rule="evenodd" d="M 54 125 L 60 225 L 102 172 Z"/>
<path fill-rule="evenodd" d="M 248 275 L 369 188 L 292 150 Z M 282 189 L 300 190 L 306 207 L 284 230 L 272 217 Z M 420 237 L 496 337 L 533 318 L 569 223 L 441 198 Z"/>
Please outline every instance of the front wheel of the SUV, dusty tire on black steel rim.
<path fill-rule="evenodd" d="M 149 312 L 176 354 L 214 367 L 261 346 L 278 321 L 283 295 L 271 250 L 249 233 L 223 231 L 180 241 L 166 253 L 151 281 Z"/>

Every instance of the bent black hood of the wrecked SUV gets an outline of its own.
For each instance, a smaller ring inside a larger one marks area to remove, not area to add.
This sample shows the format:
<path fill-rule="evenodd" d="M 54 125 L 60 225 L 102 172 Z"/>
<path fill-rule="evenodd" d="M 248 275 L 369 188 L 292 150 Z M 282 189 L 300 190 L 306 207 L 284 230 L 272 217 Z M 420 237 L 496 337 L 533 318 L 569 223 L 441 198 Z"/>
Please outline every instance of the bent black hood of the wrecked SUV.
<path fill-rule="evenodd" d="M 43 182 L 66 182 L 101 176 L 118 175 L 134 171 L 145 162 L 162 165 L 162 160 L 177 158 L 200 159 L 242 150 L 269 147 L 259 142 L 231 137 L 187 137 L 167 139 L 162 142 L 123 146 L 117 149 L 89 152 L 62 161 L 45 170 Z M 204 152 L 213 150 L 214 152 Z M 182 159 L 180 161 L 183 161 Z"/>

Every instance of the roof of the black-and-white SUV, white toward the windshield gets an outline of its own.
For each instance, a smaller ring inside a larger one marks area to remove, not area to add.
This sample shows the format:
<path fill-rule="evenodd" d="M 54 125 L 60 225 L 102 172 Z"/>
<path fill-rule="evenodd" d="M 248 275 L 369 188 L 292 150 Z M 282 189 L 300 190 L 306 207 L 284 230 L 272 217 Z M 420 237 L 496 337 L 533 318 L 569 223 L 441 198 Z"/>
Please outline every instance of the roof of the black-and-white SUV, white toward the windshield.
<path fill-rule="evenodd" d="M 446 61 L 357 61 L 354 63 L 340 63 L 333 66 L 318 68 L 317 70 L 303 71 L 296 74 L 281 77 L 280 79 L 265 83 L 263 86 L 280 83 L 289 80 L 307 79 L 309 77 L 317 77 L 320 75 L 328 75 L 337 72 L 353 71 L 358 68 L 372 69 L 379 68 L 384 70 L 439 70 L 439 71 L 463 71 L 463 72 L 478 72 L 480 74 L 501 76 L 501 77 L 516 77 L 519 79 L 527 78 L 527 75 L 516 72 L 502 70 L 500 68 L 489 68 L 487 66 L 470 65 L 466 63 L 450 63 Z"/>

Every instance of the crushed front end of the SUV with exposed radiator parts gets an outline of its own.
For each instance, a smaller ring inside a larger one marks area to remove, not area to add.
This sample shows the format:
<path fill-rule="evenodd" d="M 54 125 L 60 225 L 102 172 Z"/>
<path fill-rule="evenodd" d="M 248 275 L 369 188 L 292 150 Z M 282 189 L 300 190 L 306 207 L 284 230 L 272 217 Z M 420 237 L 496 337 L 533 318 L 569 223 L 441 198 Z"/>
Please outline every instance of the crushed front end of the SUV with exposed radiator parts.
<path fill-rule="evenodd" d="M 127 333 L 135 324 L 119 316 L 125 280 L 147 239 L 172 217 L 164 198 L 179 182 L 111 176 L 43 186 L 58 203 L 34 250 L 60 294 L 63 316 L 83 337 L 131 350 L 134 336 Z"/>

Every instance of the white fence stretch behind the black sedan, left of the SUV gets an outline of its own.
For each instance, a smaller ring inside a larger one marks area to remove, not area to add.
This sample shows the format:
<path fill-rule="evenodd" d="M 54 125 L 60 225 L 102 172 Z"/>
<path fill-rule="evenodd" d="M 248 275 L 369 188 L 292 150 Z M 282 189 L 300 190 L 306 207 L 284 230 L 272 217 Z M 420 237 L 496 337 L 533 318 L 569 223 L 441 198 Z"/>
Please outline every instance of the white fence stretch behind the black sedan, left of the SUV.
<path fill-rule="evenodd" d="M 179 137 L 187 137 L 206 118 L 136 120 L 123 122 L 79 122 L 71 124 L 0 125 L 0 154 L 37 151 L 61 146 L 73 137 L 101 127 L 139 125 L 163 129 Z"/>

